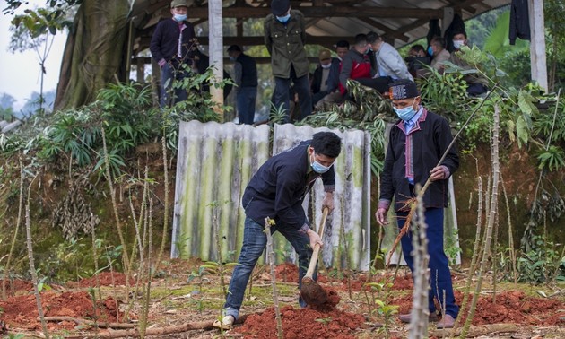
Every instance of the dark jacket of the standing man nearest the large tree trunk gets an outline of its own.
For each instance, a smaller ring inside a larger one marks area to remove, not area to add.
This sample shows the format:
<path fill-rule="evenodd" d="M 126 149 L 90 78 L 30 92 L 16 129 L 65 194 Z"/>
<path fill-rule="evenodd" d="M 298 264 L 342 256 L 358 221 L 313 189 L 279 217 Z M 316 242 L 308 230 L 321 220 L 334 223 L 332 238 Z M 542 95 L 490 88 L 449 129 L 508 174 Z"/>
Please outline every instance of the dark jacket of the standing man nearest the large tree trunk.
<path fill-rule="evenodd" d="M 180 57 L 178 57 L 178 37 L 181 32 L 179 27 L 182 26 L 179 26 L 178 22 L 170 18 L 157 24 L 149 45 L 151 55 L 157 62 L 165 59 L 167 62 L 173 60 L 193 65 L 197 46 L 195 28 L 190 22 L 185 21 L 183 24 Z"/>

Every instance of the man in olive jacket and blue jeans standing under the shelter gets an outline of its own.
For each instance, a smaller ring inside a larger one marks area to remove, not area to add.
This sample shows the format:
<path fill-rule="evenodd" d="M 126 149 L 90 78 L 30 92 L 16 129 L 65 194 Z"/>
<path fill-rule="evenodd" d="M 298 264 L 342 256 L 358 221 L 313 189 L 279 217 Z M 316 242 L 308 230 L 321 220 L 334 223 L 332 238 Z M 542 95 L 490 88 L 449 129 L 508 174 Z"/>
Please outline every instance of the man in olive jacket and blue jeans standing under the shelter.
<path fill-rule="evenodd" d="M 274 75 L 274 106 L 290 112 L 291 81 L 300 101 L 300 117 L 312 113 L 309 88 L 309 61 L 304 49 L 306 24 L 300 11 L 291 10 L 290 0 L 273 0 L 272 14 L 265 18 L 265 46 L 271 55 Z"/>

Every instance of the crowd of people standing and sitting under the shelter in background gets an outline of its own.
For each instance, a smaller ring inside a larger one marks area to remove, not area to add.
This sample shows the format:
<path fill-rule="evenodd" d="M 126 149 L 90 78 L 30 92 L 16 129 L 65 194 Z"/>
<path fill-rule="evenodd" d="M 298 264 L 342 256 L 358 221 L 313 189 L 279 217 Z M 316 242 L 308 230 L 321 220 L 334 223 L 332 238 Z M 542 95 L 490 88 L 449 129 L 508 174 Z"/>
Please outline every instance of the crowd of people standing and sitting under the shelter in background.
<path fill-rule="evenodd" d="M 323 48 L 319 51 L 314 72 L 309 72 L 306 53 L 306 23 L 300 11 L 291 9 L 289 0 L 273 0 L 272 13 L 264 22 L 265 47 L 271 56 L 274 77 L 272 103 L 275 109 L 286 112 L 283 122 L 308 117 L 312 112 L 327 108 L 328 104 L 355 100 L 347 91 L 347 82 L 355 80 L 381 94 L 387 94 L 388 86 L 397 80 L 425 77 L 430 68 L 439 73 L 447 62 L 468 68 L 457 57 L 457 51 L 467 46 L 465 31 L 453 32 L 453 39 L 432 37 L 428 48 L 414 45 L 407 57 L 374 31 L 357 34 L 349 41 L 336 41 L 334 53 Z M 151 41 L 152 57 L 161 66 L 161 107 L 186 100 L 187 93 L 175 81 L 188 74 L 204 73 L 208 57 L 196 46 L 193 25 L 187 21 L 187 1 L 171 2 L 172 19 L 159 22 Z M 449 48 L 453 49 L 451 52 Z M 234 74 L 230 77 L 236 91 L 236 110 L 240 124 L 253 124 L 257 96 L 256 61 L 244 53 L 238 45 L 230 46 L 227 54 L 233 62 Z M 466 74 L 467 92 L 477 96 L 488 91 L 487 82 L 477 74 Z M 229 93 L 230 87 L 224 89 Z M 172 95 L 171 95 L 172 94 Z"/>

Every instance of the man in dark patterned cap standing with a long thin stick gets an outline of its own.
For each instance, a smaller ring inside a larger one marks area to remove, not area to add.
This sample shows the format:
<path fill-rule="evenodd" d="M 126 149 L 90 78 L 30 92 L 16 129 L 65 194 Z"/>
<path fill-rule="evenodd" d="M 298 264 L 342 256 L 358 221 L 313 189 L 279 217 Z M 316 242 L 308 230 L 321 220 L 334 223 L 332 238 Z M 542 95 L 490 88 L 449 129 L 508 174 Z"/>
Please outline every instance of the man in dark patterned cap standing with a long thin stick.
<path fill-rule="evenodd" d="M 428 178 L 431 184 L 423 196 L 424 217 L 428 227 L 428 253 L 430 255 L 430 293 L 428 307 L 430 321 L 438 321 L 436 304 L 445 305 L 441 314 L 444 317 L 438 328 L 451 328 L 459 312 L 453 293 L 448 256 L 443 248 L 443 214 L 448 206 L 448 178 L 459 167 L 459 155 L 452 147 L 446 158 L 438 165 L 448 145 L 453 140 L 448 120 L 430 112 L 422 106 L 416 83 L 399 80 L 390 84 L 388 91 L 399 120 L 390 130 L 387 155 L 380 176 L 380 196 L 375 213 L 381 226 L 387 225 L 387 212 L 392 206 L 396 214 L 398 228 L 410 211 L 406 200 L 416 196 L 415 187 L 424 186 Z M 406 264 L 413 271 L 412 232 L 408 231 L 401 239 Z M 445 298 L 444 298 L 445 295 Z M 402 314 L 399 319 L 410 323 L 411 315 Z"/>

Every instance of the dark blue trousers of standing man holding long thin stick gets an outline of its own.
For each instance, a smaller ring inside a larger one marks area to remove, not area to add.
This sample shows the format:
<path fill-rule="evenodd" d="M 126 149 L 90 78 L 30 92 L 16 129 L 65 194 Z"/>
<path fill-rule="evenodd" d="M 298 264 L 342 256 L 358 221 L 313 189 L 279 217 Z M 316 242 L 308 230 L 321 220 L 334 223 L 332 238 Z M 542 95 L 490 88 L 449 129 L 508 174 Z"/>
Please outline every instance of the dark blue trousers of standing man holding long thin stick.
<path fill-rule="evenodd" d="M 398 228 L 402 229 L 408 213 L 396 213 Z M 451 282 L 451 273 L 449 272 L 448 256 L 443 250 L 443 208 L 429 208 L 424 213 L 424 219 L 428 225 L 428 254 L 430 255 L 430 291 L 428 294 L 428 307 L 430 313 L 436 311 L 433 302 L 435 297 L 441 307 L 444 305 L 443 293 L 445 291 L 445 313 L 456 318 L 459 313 L 459 307 L 456 305 L 455 296 L 453 294 L 453 284 Z M 404 260 L 410 271 L 414 272 L 412 257 L 412 231 L 409 231 L 400 239 L 402 244 L 402 253 Z"/>

